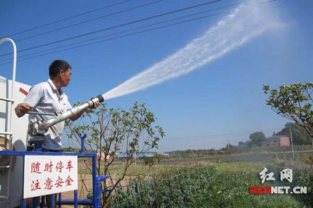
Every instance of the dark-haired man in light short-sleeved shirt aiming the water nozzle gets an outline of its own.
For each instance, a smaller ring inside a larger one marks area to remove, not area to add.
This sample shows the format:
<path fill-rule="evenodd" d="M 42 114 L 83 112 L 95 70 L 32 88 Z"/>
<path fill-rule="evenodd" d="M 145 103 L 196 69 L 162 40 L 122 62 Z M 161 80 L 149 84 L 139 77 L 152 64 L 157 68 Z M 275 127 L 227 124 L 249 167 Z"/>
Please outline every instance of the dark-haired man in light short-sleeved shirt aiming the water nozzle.
<path fill-rule="evenodd" d="M 49 76 L 47 82 L 34 85 L 29 90 L 24 103 L 20 103 L 15 107 L 17 116 L 24 116 L 29 111 L 41 114 L 30 114 L 29 125 L 35 121 L 47 121 L 51 119 L 47 113 L 61 114 L 72 108 L 67 101 L 67 96 L 61 89 L 70 83 L 72 67 L 64 60 L 55 60 L 50 64 Z M 93 107 L 98 107 L 99 102 L 94 103 Z M 70 117 L 72 121 L 78 119 L 83 112 Z M 45 144 L 42 145 L 42 151 L 59 152 L 62 149 L 61 135 L 63 133 L 65 121 L 52 125 L 45 133 Z M 29 126 L 30 128 L 30 126 Z"/>

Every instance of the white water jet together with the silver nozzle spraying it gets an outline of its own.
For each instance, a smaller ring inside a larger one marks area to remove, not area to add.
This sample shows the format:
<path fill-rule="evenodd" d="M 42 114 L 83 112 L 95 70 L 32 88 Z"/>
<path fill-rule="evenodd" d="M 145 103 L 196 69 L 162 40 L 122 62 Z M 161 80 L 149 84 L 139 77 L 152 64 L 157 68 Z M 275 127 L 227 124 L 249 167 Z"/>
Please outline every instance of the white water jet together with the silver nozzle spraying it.
<path fill-rule="evenodd" d="M 88 107 L 92 107 L 93 103 L 97 101 L 102 103 L 104 100 L 146 89 L 198 69 L 245 44 L 253 37 L 280 26 L 280 21 L 275 18 L 274 14 L 275 12 L 270 9 L 266 10 L 265 6 L 260 6 L 253 1 L 242 3 L 232 10 L 229 15 L 220 19 L 216 25 L 211 26 L 203 35 L 191 40 L 186 46 L 168 56 L 168 58 L 152 65 L 152 67 L 109 92 L 97 96 L 97 98 L 93 98 L 47 121 L 39 121 L 34 128 L 39 132 L 47 130 L 52 125 L 69 119 Z"/>

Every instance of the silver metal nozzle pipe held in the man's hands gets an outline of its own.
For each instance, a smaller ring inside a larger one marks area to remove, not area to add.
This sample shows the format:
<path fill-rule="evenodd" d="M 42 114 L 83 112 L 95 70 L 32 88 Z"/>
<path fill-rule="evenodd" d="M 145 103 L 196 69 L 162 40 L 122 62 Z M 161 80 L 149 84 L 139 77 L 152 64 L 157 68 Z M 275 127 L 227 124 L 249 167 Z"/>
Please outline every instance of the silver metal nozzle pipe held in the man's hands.
<path fill-rule="evenodd" d="M 80 112 L 84 112 L 88 107 L 92 107 L 95 102 L 102 103 L 103 101 L 104 101 L 103 96 L 98 95 L 96 98 L 93 98 L 86 103 L 83 103 L 77 107 L 73 107 L 72 109 L 67 110 L 67 112 L 65 112 L 64 114 L 61 114 L 60 116 L 56 116 L 52 119 L 39 123 L 38 128 L 40 130 L 45 130 L 46 128 L 49 128 L 56 123 L 60 123 L 61 121 L 64 121 L 65 119 L 69 119 L 70 117 L 77 115 Z"/>

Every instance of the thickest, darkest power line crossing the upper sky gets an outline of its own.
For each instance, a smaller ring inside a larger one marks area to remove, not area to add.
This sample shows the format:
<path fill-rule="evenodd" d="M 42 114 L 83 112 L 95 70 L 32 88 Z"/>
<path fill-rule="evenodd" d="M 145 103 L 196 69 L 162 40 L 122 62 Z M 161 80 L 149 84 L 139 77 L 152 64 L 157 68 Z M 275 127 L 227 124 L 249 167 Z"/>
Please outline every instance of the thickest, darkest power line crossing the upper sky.
<path fill-rule="evenodd" d="M 183 10 L 188 10 L 188 9 L 191 9 L 191 8 L 196 8 L 196 7 L 199 7 L 199 6 L 204 6 L 204 5 L 207 5 L 207 4 L 210 4 L 210 3 L 215 3 L 215 2 L 217 2 L 217 1 L 221 1 L 221 0 L 209 1 L 209 2 L 207 2 L 207 3 L 200 3 L 200 4 L 198 4 L 198 5 L 190 6 L 190 7 L 188 7 L 188 8 L 182 8 L 182 9 L 174 10 L 174 11 L 171 11 L 171 12 L 165 12 L 165 13 L 161 13 L 161 14 L 159 14 L 159 15 L 154 15 L 154 16 L 152 16 L 152 17 L 145 17 L 145 18 L 143 18 L 143 19 L 138 19 L 138 20 L 135 20 L 135 21 L 130 21 L 130 22 L 127 22 L 127 23 L 125 23 L 125 24 L 119 24 L 119 25 L 116 25 L 116 26 L 111 26 L 111 27 L 109 27 L 109 28 L 103 28 L 103 29 L 98 30 L 98 31 L 93 31 L 93 32 L 89 32 L 89 33 L 84 33 L 84 34 L 76 35 L 76 36 L 73 36 L 73 37 L 67 37 L 67 38 L 65 38 L 65 39 L 63 39 L 63 40 L 58 40 L 58 41 L 54 41 L 54 42 L 49 42 L 49 43 L 47 43 L 47 44 L 41 44 L 41 45 L 38 45 L 38 46 L 33 46 L 33 47 L 31 47 L 31 48 L 28 48 L 28 49 L 23 49 L 23 50 L 20 50 L 19 52 L 29 51 L 29 50 L 31 50 L 31 49 L 38 49 L 38 48 L 40 48 L 40 47 L 42 47 L 42 46 L 48 46 L 48 45 L 51 45 L 51 44 L 56 44 L 56 43 L 59 43 L 59 42 L 64 42 L 64 41 L 67 41 L 67 40 L 72 40 L 72 39 L 75 39 L 75 38 L 77 38 L 77 37 L 83 37 L 83 36 L 86 36 L 86 35 L 91 35 L 91 34 L 99 33 L 99 32 L 102 32 L 102 31 L 108 31 L 108 30 L 111 30 L 111 29 L 113 29 L 113 28 L 119 28 L 119 27 L 121 27 L 121 26 L 127 26 L 127 25 L 129 25 L 129 24 L 138 23 L 138 22 L 140 22 L 140 21 L 145 21 L 145 20 L 147 20 L 147 19 L 154 19 L 154 18 L 161 17 L 161 16 L 164 16 L 164 15 L 170 15 L 170 14 L 175 13 L 175 12 L 180 12 L 180 11 L 183 11 Z M 2 54 L 2 55 L 0 55 L 0 57 L 5 56 L 5 55 L 10 55 L 10 54 L 12 54 L 12 53 Z"/>

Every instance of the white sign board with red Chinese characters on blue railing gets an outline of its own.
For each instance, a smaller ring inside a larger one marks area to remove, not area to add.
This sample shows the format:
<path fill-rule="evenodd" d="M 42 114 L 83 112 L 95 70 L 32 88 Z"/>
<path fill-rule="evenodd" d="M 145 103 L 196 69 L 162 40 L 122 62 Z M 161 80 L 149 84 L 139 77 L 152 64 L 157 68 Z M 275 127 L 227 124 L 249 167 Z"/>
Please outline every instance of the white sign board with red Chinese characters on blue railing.
<path fill-rule="evenodd" d="M 77 156 L 24 157 L 24 198 L 77 190 Z"/>

